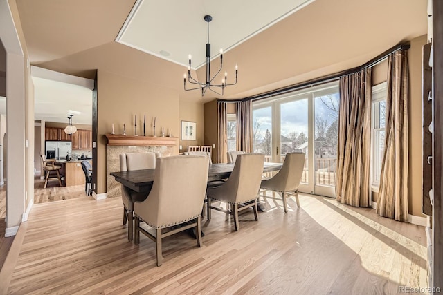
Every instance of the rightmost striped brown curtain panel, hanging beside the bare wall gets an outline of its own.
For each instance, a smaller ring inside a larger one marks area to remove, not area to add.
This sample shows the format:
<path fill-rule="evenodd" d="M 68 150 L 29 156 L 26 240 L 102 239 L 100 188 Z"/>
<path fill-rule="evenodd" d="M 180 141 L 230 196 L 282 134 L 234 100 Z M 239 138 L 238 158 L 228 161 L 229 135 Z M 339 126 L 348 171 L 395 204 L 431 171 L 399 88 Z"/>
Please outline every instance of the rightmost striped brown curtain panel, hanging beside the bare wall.
<path fill-rule="evenodd" d="M 377 213 L 408 220 L 408 59 L 405 50 L 388 57 L 386 137 Z"/>

